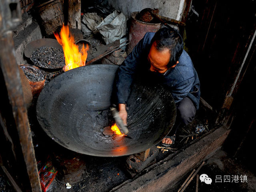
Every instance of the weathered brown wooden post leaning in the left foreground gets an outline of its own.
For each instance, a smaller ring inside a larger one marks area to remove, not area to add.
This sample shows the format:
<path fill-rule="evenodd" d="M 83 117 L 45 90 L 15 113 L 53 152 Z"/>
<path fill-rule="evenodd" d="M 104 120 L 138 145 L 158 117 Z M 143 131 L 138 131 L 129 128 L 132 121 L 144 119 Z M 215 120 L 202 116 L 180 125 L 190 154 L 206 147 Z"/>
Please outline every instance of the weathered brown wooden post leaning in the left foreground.
<path fill-rule="evenodd" d="M 25 186 L 29 184 L 32 192 L 41 192 L 40 180 L 36 165 L 34 146 L 28 122 L 26 107 L 24 104 L 22 85 L 20 83 L 20 72 L 16 63 L 14 50 L 14 42 L 12 32 L 7 31 L 0 36 L 0 68 L 2 76 L 8 92 L 9 102 L 12 108 L 14 123 L 18 132 L 18 139 L 13 141 L 15 144 L 20 144 L 23 159 L 26 164 L 26 170 L 29 180 Z M 6 102 L 6 101 L 3 101 Z M 16 152 L 16 151 L 15 151 Z M 17 152 L 17 156 L 20 152 Z M 17 162 L 22 166 L 22 162 Z M 18 171 L 18 170 L 15 170 Z M 29 191 L 29 189 L 26 189 Z"/>

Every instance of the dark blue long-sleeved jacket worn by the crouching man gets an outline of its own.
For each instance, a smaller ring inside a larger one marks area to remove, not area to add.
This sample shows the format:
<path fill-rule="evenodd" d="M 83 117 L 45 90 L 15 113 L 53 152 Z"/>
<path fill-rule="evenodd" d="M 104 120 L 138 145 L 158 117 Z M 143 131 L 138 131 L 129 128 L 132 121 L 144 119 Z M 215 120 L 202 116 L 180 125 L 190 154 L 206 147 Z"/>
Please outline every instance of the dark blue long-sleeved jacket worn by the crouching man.
<path fill-rule="evenodd" d="M 200 100 L 200 82 L 197 72 L 193 66 L 188 53 L 183 50 L 179 63 L 162 75 L 156 72 L 150 72 L 148 63 L 148 53 L 151 48 L 151 40 L 154 33 L 148 32 L 144 38 L 138 42 L 132 52 L 118 69 L 118 78 L 116 83 L 118 103 L 126 103 L 130 94 L 130 86 L 136 74 L 158 82 L 166 86 L 175 103 L 188 97 L 194 103 L 196 109 L 199 107 Z M 149 75 L 149 76 L 148 76 Z"/>

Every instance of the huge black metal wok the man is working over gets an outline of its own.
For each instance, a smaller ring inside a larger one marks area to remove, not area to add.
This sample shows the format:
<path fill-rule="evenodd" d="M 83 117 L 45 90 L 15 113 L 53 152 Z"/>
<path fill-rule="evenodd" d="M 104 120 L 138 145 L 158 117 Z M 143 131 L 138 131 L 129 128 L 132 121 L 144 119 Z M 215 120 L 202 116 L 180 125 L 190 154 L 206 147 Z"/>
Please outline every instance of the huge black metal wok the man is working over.
<path fill-rule="evenodd" d="M 176 107 L 161 86 L 134 83 L 128 99 L 128 136 L 104 136 L 113 125 L 110 98 L 118 66 L 91 65 L 67 71 L 39 95 L 36 113 L 58 144 L 92 156 L 124 156 L 144 151 L 170 132 Z"/>

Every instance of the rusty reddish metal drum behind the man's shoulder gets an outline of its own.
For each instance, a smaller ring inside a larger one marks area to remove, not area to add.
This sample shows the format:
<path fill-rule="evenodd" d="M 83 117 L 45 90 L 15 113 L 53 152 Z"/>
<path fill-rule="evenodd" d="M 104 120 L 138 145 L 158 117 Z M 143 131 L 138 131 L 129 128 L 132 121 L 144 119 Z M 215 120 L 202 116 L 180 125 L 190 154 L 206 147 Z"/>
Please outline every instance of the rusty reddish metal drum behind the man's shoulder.
<path fill-rule="evenodd" d="M 138 12 L 131 13 L 128 54 L 132 52 L 134 46 L 144 37 L 146 32 L 157 32 L 161 28 L 160 23 L 146 23 L 136 20 L 137 14 Z"/>

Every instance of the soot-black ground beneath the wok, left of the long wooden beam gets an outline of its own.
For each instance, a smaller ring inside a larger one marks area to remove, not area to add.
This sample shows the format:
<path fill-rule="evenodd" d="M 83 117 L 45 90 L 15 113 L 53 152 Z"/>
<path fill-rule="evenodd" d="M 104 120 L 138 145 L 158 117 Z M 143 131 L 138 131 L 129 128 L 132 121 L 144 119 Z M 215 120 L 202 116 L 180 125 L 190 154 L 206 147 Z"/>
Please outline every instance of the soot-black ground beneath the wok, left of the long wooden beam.
<path fill-rule="evenodd" d="M 108 192 L 114 186 L 118 186 L 130 178 L 122 164 L 125 162 L 125 156 L 116 158 L 86 157 L 86 173 L 80 182 L 72 184 L 72 188 L 66 189 L 65 184 L 55 181 L 50 192 Z"/>

